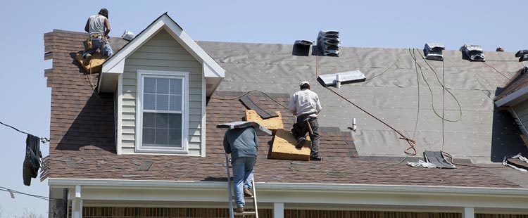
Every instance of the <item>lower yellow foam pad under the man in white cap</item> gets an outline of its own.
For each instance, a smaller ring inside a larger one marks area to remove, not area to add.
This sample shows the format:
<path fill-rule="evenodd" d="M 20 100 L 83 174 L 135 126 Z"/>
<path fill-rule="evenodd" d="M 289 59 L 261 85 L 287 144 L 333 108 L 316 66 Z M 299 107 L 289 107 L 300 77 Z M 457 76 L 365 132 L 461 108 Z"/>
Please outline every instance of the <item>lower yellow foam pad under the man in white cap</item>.
<path fill-rule="evenodd" d="M 277 129 L 273 146 L 271 149 L 271 158 L 279 160 L 310 160 L 310 141 L 306 139 L 301 149 L 295 148 L 296 139 L 291 132 L 284 129 Z"/>

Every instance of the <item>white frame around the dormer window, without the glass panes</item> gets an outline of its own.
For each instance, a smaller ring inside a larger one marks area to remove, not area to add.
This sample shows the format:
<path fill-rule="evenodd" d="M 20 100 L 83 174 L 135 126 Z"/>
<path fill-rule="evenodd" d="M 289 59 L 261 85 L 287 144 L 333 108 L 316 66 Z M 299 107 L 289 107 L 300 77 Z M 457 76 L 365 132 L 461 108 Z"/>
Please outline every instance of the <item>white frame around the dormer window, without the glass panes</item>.
<path fill-rule="evenodd" d="M 143 146 L 143 81 L 144 77 L 183 80 L 182 148 Z M 136 140 L 135 150 L 142 153 L 189 153 L 189 72 L 137 70 Z"/>

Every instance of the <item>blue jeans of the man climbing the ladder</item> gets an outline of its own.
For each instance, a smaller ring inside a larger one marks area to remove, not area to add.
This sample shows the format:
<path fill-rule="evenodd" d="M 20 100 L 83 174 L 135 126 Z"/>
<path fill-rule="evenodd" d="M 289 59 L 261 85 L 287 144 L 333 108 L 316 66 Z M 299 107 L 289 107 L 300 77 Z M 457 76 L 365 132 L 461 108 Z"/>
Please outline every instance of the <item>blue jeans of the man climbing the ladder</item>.
<path fill-rule="evenodd" d="M 255 165 L 256 160 L 256 157 L 239 157 L 232 163 L 234 201 L 237 203 L 237 207 L 244 207 L 246 204 L 243 188 L 251 188 L 253 165 Z"/>

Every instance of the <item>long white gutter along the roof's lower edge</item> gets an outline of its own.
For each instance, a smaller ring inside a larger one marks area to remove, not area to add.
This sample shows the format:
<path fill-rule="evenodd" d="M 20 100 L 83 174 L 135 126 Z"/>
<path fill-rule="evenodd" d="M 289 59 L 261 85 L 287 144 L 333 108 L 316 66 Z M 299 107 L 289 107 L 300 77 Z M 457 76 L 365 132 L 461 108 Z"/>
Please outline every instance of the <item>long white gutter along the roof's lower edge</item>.
<path fill-rule="evenodd" d="M 48 179 L 52 188 L 71 188 L 75 185 L 100 186 L 101 188 L 225 188 L 222 181 L 154 181 L 154 180 L 117 180 L 117 179 Z M 422 193 L 429 195 L 522 195 L 528 198 L 528 188 L 481 188 L 455 186 L 396 186 L 396 185 L 361 185 L 361 184 L 294 184 L 294 183 L 259 183 L 263 191 L 284 192 L 348 192 L 348 193 Z"/>

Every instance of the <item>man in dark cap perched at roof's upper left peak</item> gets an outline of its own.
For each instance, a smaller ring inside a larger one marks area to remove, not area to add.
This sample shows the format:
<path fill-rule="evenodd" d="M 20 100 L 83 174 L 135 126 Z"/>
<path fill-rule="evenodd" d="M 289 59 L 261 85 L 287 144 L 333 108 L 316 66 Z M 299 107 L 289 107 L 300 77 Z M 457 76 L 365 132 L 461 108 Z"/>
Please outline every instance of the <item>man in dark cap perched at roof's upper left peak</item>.
<path fill-rule="evenodd" d="M 97 49 L 103 53 L 103 56 L 112 56 L 112 48 L 108 40 L 106 40 L 110 32 L 110 22 L 108 22 L 108 10 L 106 8 L 101 8 L 98 14 L 91 15 L 88 18 L 84 31 L 88 32 L 92 39 L 92 49 L 82 53 L 84 65 L 89 65 L 92 60 L 92 53 L 96 52 Z"/>

